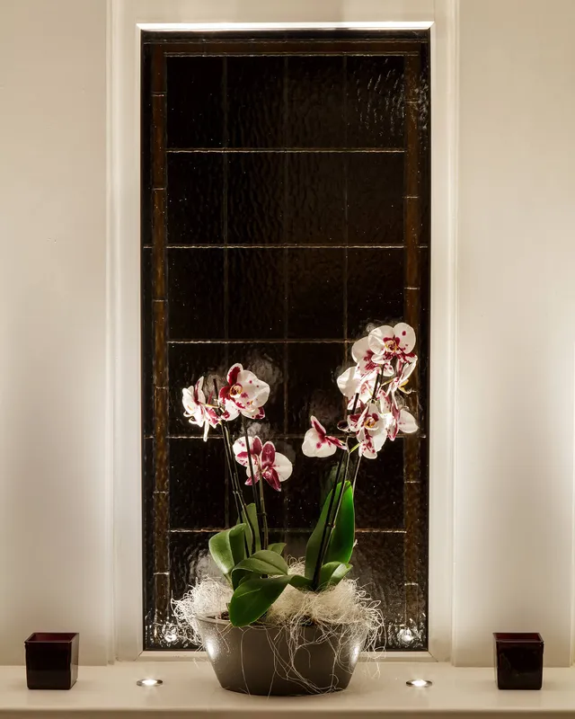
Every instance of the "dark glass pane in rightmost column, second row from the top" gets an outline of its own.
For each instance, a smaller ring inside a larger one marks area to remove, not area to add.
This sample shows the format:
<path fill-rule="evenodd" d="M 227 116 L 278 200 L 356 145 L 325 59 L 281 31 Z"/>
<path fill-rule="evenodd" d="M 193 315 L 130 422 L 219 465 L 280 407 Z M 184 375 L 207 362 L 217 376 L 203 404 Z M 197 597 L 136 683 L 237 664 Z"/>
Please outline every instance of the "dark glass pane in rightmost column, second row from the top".
<path fill-rule="evenodd" d="M 403 243 L 403 155 L 348 155 L 349 244 Z"/>

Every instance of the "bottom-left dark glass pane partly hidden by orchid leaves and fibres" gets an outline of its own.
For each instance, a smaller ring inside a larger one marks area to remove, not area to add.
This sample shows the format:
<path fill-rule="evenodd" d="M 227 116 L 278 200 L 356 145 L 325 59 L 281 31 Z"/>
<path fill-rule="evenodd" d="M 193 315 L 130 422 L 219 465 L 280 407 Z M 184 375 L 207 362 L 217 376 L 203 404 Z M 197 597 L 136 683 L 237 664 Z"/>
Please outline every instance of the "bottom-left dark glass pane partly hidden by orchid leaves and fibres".
<path fill-rule="evenodd" d="M 219 570 L 209 555 L 208 542 L 215 532 L 173 532 L 170 536 L 170 586 L 181 599 L 197 580 L 217 577 Z"/>

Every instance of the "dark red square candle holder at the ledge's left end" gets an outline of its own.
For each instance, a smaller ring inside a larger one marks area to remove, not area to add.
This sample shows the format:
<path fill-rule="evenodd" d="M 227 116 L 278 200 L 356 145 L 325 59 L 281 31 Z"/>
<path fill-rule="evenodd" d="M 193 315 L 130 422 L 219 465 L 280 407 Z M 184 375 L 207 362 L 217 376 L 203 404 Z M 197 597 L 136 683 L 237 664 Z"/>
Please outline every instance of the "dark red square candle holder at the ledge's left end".
<path fill-rule="evenodd" d="M 26 679 L 29 689 L 71 689 L 78 678 L 80 635 L 35 632 L 26 647 Z"/>

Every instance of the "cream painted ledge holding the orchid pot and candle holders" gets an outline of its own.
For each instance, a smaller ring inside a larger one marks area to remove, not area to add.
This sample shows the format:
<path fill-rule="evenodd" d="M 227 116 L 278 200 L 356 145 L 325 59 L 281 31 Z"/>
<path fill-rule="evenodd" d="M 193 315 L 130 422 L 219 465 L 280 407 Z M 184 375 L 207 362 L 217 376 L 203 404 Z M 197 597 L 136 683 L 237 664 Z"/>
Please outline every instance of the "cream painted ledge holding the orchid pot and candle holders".
<path fill-rule="evenodd" d="M 23 667 L 0 668 L 0 716 L 32 719 L 165 717 L 166 719 L 293 719 L 416 716 L 511 717 L 573 716 L 575 670 L 548 669 L 544 689 L 499 691 L 491 669 L 459 669 L 449 664 L 361 662 L 347 691 L 323 697 L 248 697 L 219 688 L 207 661 L 130 662 L 81 667 L 70 691 L 29 691 Z M 163 679 L 162 687 L 137 687 L 137 679 Z M 405 686 L 407 679 L 433 680 L 431 688 Z"/>

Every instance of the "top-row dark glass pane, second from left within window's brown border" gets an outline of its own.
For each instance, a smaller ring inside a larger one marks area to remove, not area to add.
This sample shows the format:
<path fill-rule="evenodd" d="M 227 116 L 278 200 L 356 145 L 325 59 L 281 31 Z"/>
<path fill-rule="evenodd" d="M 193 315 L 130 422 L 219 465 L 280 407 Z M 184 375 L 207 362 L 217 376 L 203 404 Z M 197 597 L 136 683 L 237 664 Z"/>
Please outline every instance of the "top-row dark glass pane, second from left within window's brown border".
<path fill-rule="evenodd" d="M 284 139 L 284 58 L 227 58 L 230 147 L 279 147 Z"/>

